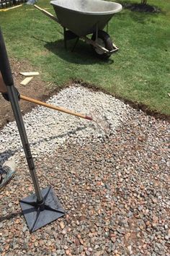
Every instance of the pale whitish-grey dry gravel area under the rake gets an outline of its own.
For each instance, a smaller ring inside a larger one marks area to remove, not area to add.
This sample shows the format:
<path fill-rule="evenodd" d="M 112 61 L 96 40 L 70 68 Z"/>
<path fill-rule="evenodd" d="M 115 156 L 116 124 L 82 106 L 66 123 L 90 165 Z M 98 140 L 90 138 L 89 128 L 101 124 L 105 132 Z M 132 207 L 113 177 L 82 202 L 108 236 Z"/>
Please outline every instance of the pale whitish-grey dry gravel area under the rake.
<path fill-rule="evenodd" d="M 63 106 L 81 114 L 90 115 L 92 113 L 99 118 L 102 117 L 109 124 L 109 133 L 115 131 L 129 111 L 124 103 L 112 96 L 93 93 L 80 86 L 62 90 L 58 95 L 51 97 L 48 103 Z M 94 137 L 96 141 L 104 134 L 94 122 L 42 106 L 38 106 L 31 113 L 26 114 L 24 124 L 30 139 L 32 154 L 35 157 L 44 153 L 53 153 L 58 145 L 66 142 L 70 137 L 79 137 L 81 141 Z M 0 132 L 0 136 L 0 152 L 4 148 L 19 152 L 19 155 L 20 151 L 23 152 L 15 121 L 7 124 Z"/>

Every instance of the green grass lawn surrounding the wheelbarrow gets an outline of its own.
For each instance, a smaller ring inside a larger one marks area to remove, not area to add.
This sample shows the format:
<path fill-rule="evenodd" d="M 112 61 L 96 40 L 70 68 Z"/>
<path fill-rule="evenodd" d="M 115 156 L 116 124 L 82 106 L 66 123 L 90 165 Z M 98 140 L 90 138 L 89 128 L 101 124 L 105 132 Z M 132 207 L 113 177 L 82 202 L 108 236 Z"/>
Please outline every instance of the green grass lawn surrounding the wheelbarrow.
<path fill-rule="evenodd" d="M 54 13 L 49 2 L 40 0 L 37 5 Z M 94 57 L 84 42 L 73 53 L 66 52 L 61 25 L 27 4 L 0 12 L 0 25 L 9 56 L 27 59 L 42 80 L 56 86 L 83 80 L 152 111 L 170 114 L 170 1 L 148 0 L 148 4 L 161 8 L 161 13 L 123 9 L 109 22 L 109 35 L 120 47 L 109 61 Z"/>

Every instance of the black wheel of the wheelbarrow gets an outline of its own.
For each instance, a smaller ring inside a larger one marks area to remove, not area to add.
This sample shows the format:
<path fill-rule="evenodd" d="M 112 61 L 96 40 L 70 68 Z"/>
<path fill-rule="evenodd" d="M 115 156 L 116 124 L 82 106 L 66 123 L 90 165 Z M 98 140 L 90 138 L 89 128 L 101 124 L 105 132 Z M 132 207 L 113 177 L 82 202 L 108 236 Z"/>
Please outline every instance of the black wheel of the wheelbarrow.
<path fill-rule="evenodd" d="M 94 33 L 91 37 L 91 40 L 94 40 L 96 43 L 98 43 L 100 46 L 106 48 L 108 51 L 113 50 L 112 40 L 110 36 L 103 30 L 98 31 L 98 38 L 96 41 L 96 33 Z M 94 53 L 100 58 L 100 59 L 109 59 L 109 56 L 111 54 L 104 53 L 102 49 L 97 48 L 95 46 L 91 46 L 94 50 Z"/>

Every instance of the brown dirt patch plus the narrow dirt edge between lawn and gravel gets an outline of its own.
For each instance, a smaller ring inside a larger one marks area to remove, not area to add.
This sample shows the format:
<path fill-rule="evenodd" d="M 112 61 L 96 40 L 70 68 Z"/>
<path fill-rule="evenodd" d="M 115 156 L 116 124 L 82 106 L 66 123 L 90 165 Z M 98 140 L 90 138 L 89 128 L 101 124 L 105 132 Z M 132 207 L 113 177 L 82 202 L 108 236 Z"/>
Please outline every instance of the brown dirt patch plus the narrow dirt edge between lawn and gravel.
<path fill-rule="evenodd" d="M 19 61 L 11 59 L 10 64 L 12 67 L 14 85 L 17 87 L 20 94 L 25 95 L 27 97 L 35 98 L 39 101 L 45 101 L 51 95 L 58 93 L 58 91 L 60 91 L 61 89 L 69 87 L 70 85 L 73 85 L 73 81 L 69 81 L 67 82 L 66 85 L 62 86 L 62 88 L 55 88 L 52 90 L 47 87 L 47 84 L 45 82 L 40 80 L 40 76 L 37 76 L 37 77 L 34 77 L 34 79 L 32 79 L 32 81 L 28 85 L 23 86 L 23 85 L 20 85 L 20 82 L 24 80 L 24 77 L 21 74 L 19 74 L 19 72 L 31 72 L 31 71 L 38 71 L 38 70 L 33 69 L 30 66 L 30 64 L 27 63 L 27 61 L 22 61 L 21 63 Z M 82 80 L 76 80 L 74 82 L 76 84 L 84 86 L 85 88 L 91 88 L 91 90 L 97 90 L 97 91 L 100 90 L 103 93 L 109 94 L 106 90 L 102 90 L 101 88 L 98 88 L 96 85 L 89 85 Z M 156 119 L 164 119 L 164 120 L 170 121 L 170 116 L 160 114 L 156 111 L 151 111 L 148 108 L 148 106 L 127 101 L 123 98 L 117 97 L 116 95 L 112 95 L 112 96 L 114 96 L 115 98 L 119 98 L 120 101 L 123 101 L 124 103 L 129 104 L 135 109 L 138 109 L 138 110 L 141 109 L 146 114 L 150 116 L 154 116 Z M 21 100 L 19 101 L 19 106 L 21 108 L 22 114 L 25 114 L 31 111 L 32 108 L 35 108 L 36 105 L 33 103 L 29 103 L 27 101 Z M 8 124 L 9 121 L 14 121 L 12 107 L 8 101 L 4 100 L 4 98 L 1 96 L 1 93 L 0 93 L 0 129 L 2 129 L 5 124 Z"/>

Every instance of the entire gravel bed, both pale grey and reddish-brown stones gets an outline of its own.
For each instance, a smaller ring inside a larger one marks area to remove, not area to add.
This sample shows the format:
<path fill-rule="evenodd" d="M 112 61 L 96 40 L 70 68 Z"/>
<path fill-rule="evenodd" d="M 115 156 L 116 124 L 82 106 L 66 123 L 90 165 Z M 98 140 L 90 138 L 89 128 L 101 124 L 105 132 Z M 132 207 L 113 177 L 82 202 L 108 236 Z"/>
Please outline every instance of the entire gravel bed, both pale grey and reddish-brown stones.
<path fill-rule="evenodd" d="M 97 109 L 109 132 L 48 108 L 24 116 L 40 186 L 67 212 L 30 234 L 19 207 L 30 174 L 15 123 L 1 130 L 1 163 L 15 155 L 18 168 L 0 193 L 0 254 L 170 255 L 169 123 L 76 85 L 48 102 Z"/>

